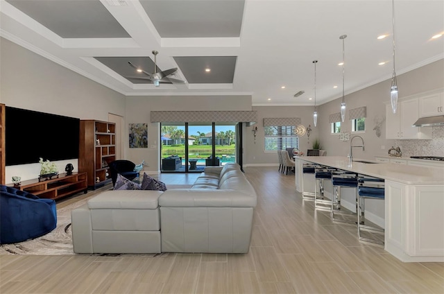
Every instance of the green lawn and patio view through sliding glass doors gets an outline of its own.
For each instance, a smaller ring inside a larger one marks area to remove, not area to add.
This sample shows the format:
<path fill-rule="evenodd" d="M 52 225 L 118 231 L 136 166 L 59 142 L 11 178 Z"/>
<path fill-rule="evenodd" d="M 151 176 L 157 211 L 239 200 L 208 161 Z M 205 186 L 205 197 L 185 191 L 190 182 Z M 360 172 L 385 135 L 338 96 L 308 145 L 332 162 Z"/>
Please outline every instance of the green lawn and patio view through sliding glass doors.
<path fill-rule="evenodd" d="M 235 162 L 235 128 L 220 123 L 161 123 L 160 171 L 201 173 L 205 166 Z"/>

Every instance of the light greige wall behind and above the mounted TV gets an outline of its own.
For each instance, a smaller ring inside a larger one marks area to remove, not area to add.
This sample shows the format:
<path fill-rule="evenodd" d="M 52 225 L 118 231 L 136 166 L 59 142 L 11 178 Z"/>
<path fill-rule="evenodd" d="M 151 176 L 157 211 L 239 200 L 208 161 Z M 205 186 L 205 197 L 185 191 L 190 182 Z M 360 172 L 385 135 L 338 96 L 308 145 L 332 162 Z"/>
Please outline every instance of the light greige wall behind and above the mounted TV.
<path fill-rule="evenodd" d="M 0 102 L 6 106 L 101 121 L 108 121 L 108 113 L 125 115 L 123 95 L 3 38 L 0 60 Z M 24 152 L 39 144 L 23 139 Z M 37 161 L 6 166 L 6 183 L 11 182 L 12 175 L 19 175 L 22 180 L 37 178 L 40 174 Z M 65 172 L 67 162 L 78 171 L 77 160 L 71 160 L 56 162 L 60 172 Z"/>

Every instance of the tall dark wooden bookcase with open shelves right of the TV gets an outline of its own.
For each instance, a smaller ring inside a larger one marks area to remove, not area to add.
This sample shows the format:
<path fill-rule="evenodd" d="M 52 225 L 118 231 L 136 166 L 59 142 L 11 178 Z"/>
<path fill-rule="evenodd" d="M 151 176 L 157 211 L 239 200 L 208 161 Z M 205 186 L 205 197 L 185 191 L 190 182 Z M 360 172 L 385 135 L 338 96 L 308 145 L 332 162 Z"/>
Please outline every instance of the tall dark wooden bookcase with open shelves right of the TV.
<path fill-rule="evenodd" d="M 115 128 L 107 121 L 80 121 L 78 171 L 88 174 L 92 189 L 111 182 L 108 164 L 116 159 Z"/>

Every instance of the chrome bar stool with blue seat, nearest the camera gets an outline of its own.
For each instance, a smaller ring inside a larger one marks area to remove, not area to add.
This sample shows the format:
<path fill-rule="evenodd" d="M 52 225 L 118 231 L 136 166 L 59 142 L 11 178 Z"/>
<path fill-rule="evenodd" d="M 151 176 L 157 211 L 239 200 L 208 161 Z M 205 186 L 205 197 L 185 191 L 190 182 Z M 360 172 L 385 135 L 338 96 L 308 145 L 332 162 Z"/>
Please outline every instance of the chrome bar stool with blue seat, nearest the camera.
<path fill-rule="evenodd" d="M 379 245 L 384 245 L 384 241 L 377 238 L 371 238 L 372 234 L 368 237 L 361 236 L 361 231 L 366 231 L 370 233 L 384 234 L 384 229 L 381 227 L 375 227 L 373 225 L 366 225 L 365 223 L 365 200 L 366 199 L 379 199 L 384 200 L 384 180 L 379 178 L 359 178 L 358 187 L 358 237 L 360 241 L 376 243 Z M 384 238 L 383 238 L 384 240 Z"/>

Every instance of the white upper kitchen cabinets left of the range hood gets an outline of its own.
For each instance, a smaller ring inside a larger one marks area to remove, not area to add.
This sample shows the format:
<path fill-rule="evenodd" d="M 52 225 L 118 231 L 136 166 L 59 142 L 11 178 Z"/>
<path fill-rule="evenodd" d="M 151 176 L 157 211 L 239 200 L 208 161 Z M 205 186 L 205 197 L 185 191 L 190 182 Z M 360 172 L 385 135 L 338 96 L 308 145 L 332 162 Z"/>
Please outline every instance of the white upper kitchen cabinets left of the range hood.
<path fill-rule="evenodd" d="M 393 114 L 391 105 L 386 105 L 386 139 L 432 139 L 432 128 L 413 127 L 419 118 L 419 99 L 398 102 Z"/>

